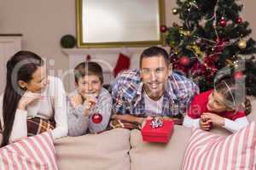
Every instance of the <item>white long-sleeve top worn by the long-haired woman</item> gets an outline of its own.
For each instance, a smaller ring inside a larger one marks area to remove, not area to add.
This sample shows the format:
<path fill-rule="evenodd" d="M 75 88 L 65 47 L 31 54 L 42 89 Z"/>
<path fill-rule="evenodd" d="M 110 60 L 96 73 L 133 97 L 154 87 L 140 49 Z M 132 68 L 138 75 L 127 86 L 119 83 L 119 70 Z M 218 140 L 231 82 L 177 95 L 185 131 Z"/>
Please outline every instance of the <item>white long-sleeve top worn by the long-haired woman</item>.
<path fill-rule="evenodd" d="M 48 77 L 48 79 L 49 85 L 42 92 L 42 98 L 32 105 L 27 105 L 26 110 L 16 110 L 10 141 L 26 137 L 26 119 L 35 116 L 55 120 L 55 129 L 52 131 L 54 139 L 67 136 L 67 102 L 64 86 L 60 78 Z M 3 95 L 0 96 L 0 121 L 3 129 Z"/>

